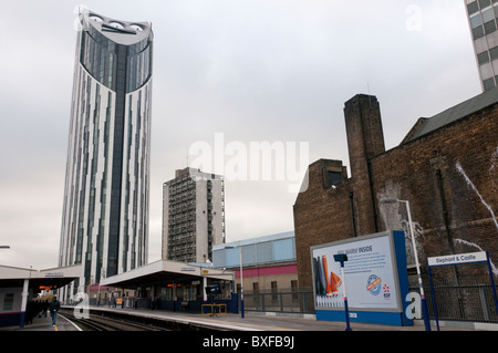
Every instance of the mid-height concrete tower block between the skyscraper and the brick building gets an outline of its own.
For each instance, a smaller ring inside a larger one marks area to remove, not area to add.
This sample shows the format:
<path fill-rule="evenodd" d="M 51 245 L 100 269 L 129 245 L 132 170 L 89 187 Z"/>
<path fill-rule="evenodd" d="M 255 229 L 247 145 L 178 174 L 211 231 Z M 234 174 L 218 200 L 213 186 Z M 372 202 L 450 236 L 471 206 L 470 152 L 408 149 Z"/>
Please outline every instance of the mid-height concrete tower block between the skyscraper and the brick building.
<path fill-rule="evenodd" d="M 163 185 L 163 260 L 206 262 L 225 242 L 225 184 L 199 169 L 176 170 Z"/>

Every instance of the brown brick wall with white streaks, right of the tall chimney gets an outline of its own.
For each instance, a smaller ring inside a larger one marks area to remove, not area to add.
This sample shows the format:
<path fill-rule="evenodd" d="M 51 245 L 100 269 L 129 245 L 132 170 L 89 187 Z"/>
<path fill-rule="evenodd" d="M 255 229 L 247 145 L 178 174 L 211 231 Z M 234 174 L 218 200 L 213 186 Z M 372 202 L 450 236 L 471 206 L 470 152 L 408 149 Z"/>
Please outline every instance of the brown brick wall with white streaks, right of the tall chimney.
<path fill-rule="evenodd" d="M 423 266 L 425 257 L 483 250 L 498 262 L 497 132 L 495 104 L 372 159 L 378 227 L 406 229 L 407 220 L 403 205 L 381 198 L 409 200 Z"/>

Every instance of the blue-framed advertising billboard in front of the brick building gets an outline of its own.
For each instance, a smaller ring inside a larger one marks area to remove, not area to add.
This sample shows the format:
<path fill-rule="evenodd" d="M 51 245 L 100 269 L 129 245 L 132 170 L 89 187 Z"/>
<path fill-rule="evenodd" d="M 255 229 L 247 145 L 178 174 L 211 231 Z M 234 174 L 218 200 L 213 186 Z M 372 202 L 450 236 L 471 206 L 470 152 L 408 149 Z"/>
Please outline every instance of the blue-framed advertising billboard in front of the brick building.
<path fill-rule="evenodd" d="M 334 255 L 345 253 L 344 277 Z M 318 320 L 344 321 L 343 283 L 347 283 L 350 320 L 411 325 L 405 315 L 408 292 L 405 237 L 386 231 L 311 248 Z"/>

